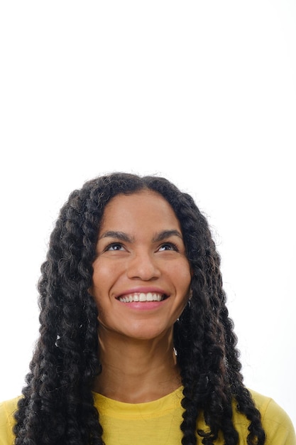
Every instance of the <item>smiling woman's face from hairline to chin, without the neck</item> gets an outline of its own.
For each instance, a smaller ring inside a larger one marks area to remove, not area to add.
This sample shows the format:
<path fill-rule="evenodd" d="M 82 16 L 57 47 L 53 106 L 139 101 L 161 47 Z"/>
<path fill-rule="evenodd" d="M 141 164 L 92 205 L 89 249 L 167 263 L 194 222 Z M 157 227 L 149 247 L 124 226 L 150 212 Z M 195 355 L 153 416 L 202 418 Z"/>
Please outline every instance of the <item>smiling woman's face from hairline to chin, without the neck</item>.
<path fill-rule="evenodd" d="M 100 334 L 151 339 L 171 333 L 190 292 L 180 223 L 158 193 L 116 195 L 106 205 L 93 263 Z"/>

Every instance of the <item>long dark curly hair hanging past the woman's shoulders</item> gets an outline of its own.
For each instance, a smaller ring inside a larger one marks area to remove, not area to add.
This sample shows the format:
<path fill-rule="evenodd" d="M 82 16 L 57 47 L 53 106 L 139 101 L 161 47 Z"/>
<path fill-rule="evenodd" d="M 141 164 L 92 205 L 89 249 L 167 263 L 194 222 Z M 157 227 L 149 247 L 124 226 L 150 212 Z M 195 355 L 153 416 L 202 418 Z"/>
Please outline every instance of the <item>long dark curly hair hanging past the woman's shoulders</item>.
<path fill-rule="evenodd" d="M 180 221 L 192 268 L 192 298 L 174 326 L 184 408 L 182 444 L 238 444 L 231 402 L 249 421 L 247 443 L 262 445 L 260 413 L 243 385 L 220 258 L 206 218 L 165 178 L 111 173 L 84 183 L 60 210 L 38 283 L 40 336 L 15 414 L 16 445 L 103 445 L 92 383 L 100 372 L 98 311 L 89 294 L 106 204 L 119 193 L 160 193 Z M 209 430 L 197 429 L 203 413 Z"/>

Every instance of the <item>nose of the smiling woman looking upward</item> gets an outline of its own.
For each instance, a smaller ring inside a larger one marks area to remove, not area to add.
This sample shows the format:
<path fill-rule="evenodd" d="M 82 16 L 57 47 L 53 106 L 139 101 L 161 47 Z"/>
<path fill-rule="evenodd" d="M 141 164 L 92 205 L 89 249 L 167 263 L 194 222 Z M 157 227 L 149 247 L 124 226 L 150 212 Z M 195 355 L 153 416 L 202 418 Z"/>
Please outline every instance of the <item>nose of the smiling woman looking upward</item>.
<path fill-rule="evenodd" d="M 160 269 L 153 253 L 135 252 L 128 262 L 128 278 L 149 281 L 160 277 Z"/>

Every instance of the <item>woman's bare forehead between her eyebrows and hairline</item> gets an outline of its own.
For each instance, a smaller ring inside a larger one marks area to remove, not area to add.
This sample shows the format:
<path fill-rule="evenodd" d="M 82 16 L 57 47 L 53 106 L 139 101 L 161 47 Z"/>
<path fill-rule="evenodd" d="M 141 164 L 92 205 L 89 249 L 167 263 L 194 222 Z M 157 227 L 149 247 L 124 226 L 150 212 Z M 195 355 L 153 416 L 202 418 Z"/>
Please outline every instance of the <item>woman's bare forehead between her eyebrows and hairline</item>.
<path fill-rule="evenodd" d="M 100 232 L 106 226 L 116 229 L 132 229 L 136 225 L 146 227 L 154 225 L 165 229 L 181 228 L 174 210 L 162 195 L 154 191 L 139 191 L 131 195 L 119 194 L 106 205 Z"/>

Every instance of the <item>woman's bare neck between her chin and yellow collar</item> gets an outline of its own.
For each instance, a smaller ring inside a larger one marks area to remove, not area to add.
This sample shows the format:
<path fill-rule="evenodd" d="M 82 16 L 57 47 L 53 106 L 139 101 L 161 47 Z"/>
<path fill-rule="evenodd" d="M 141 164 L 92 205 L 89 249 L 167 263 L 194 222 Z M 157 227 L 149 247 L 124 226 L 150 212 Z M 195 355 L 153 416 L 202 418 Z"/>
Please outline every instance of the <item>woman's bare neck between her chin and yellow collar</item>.
<path fill-rule="evenodd" d="M 140 341 L 101 328 L 99 360 L 102 372 L 93 389 L 120 402 L 150 402 L 181 385 L 172 332 L 162 338 Z"/>

